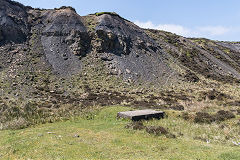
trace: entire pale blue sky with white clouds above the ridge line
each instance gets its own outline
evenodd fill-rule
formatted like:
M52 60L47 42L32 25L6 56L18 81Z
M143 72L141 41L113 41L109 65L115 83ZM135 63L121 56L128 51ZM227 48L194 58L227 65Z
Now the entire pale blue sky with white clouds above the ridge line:
M73 6L80 15L117 12L144 28L185 37L240 41L239 0L17 0L39 8Z

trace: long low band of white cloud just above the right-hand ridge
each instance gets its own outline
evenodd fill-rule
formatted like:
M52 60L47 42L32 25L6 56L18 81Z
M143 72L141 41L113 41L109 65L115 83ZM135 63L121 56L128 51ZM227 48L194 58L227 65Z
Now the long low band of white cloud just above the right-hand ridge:
M231 28L223 27L223 26L200 26L200 27L188 28L188 27L184 27L182 25L176 25L176 24L156 25L156 24L153 24L151 21L147 21L147 22L135 21L134 23L142 28L164 30L164 31L172 32L185 37L214 38L216 36L224 36L230 31L232 31Z

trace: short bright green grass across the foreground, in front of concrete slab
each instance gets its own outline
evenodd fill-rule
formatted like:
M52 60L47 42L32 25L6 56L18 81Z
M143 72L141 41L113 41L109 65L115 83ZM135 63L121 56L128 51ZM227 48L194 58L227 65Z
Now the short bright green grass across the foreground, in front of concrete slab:
M237 146L192 138L221 134L215 125L197 125L169 114L146 125L160 124L183 135L176 139L156 137L125 129L128 121L115 118L125 110L129 108L115 106L71 121L0 131L0 159L240 159Z

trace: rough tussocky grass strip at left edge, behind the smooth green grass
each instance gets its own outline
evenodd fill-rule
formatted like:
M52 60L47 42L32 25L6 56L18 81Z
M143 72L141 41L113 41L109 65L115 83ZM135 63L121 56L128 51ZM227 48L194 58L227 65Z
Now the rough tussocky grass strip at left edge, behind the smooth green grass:
M0 130L22 129L36 124L67 120L80 115L83 109L81 105L62 104L58 108L53 105L39 101L10 101L0 105ZM52 106L57 109L51 108Z

